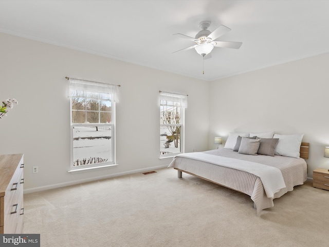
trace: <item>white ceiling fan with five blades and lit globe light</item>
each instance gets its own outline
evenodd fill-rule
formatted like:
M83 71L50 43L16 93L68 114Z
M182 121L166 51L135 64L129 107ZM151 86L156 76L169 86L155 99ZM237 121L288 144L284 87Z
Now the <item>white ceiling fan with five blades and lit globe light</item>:
M233 48L233 49L240 48L240 46L242 45L242 42L216 41L216 39L220 38L227 32L231 31L231 29L224 25L221 25L217 29L215 29L213 32L211 32L208 30L208 27L210 26L210 24L211 24L210 21L200 22L199 27L202 30L196 34L195 38L187 36L185 34L181 34L181 33L173 34L173 35L180 35L184 38L187 38L187 39L195 42L195 45L174 51L173 53L194 48L196 50L196 52L199 55L203 56L205 59L205 56L207 56L208 54L209 54L208 57L211 56L210 52L212 51L212 49L214 47L225 47L225 48Z

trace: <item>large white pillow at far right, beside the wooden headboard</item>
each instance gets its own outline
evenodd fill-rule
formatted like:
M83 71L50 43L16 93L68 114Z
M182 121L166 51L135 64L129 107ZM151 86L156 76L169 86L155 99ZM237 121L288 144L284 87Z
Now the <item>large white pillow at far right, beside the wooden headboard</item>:
M279 138L275 154L287 157L299 158L300 145L304 134L279 135L274 134L273 138Z

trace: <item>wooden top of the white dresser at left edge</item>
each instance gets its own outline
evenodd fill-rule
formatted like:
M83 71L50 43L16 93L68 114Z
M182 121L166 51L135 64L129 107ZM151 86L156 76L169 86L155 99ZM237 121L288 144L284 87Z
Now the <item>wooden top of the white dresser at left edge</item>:
M22 153L0 155L0 196L5 195L8 184L22 157Z

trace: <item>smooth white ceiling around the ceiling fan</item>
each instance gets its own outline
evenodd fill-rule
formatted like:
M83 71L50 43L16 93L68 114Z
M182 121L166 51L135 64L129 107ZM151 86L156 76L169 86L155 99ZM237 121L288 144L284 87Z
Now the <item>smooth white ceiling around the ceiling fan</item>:
M172 54L201 21L243 42L215 47L204 75L194 49ZM329 52L328 30L329 1L0 1L0 32L207 81Z

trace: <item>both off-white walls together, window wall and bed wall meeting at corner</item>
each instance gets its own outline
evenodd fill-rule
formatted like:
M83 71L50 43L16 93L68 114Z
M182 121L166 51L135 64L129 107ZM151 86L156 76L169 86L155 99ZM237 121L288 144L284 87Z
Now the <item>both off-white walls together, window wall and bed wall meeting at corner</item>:
M326 112L329 54L213 82L162 72L0 33L0 100L19 101L0 119L0 154L25 154L27 192L165 167L159 160L158 91L188 94L186 152L215 148L233 131L304 133L308 177L329 168ZM117 104L119 166L68 173L68 82L65 76L121 84ZM144 146L144 149L140 149ZM32 173L32 166L39 173Z

